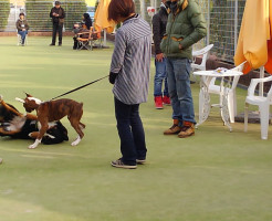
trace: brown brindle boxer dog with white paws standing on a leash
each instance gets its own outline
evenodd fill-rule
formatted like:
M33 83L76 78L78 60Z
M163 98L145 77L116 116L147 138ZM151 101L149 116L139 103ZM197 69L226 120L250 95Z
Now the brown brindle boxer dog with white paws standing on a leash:
M24 99L17 98L17 101L23 103L23 107L28 113L35 109L38 122L41 124L39 135L34 144L29 146L30 149L36 148L36 146L41 143L43 135L49 128L50 122L60 120L64 116L67 116L72 127L79 134L79 137L71 145L79 145L83 138L84 134L82 129L85 128L85 125L80 122L83 115L83 103L77 103L73 99L66 98L41 102L29 94L27 94Z

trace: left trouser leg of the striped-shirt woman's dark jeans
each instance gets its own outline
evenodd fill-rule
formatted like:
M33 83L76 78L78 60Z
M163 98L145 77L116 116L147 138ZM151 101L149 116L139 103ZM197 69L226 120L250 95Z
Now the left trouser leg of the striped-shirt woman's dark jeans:
M117 129L121 139L122 161L125 165L136 165L137 152L130 128L132 105L126 105L117 98L114 101Z

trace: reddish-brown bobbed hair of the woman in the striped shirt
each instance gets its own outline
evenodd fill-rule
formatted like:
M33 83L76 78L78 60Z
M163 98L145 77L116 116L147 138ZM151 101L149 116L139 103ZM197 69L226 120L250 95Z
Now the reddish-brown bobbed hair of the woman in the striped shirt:
M121 18L127 18L132 13L135 13L133 0L112 0L108 6L107 20L118 22Z

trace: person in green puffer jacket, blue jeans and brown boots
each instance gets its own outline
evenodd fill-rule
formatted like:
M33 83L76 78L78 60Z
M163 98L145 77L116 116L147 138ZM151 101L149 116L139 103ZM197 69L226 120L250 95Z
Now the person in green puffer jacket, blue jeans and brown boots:
M167 56L167 81L172 106L172 126L165 135L195 135L195 112L190 88L192 44L206 36L206 21L195 0L171 0L166 34L160 49Z

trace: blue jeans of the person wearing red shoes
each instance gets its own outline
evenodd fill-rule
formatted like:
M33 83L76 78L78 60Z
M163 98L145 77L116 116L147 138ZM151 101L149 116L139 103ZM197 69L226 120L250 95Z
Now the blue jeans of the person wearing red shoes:
M166 74L166 59L163 62L155 60L156 73L154 77L154 96L161 96L163 82L165 81L164 95L168 96L167 74Z

